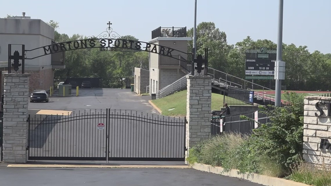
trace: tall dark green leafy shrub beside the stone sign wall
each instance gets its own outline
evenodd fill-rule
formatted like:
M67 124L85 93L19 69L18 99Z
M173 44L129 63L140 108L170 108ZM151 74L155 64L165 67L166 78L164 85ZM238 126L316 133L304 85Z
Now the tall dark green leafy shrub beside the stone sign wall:
M281 167L283 175L288 175L293 164L302 157L304 125L303 97L294 92L287 93L286 97L289 102L285 107L260 107L260 113L267 114L272 122L260 124L250 139L256 156L268 157L267 161L274 162L275 168ZM266 171L263 166L259 169Z

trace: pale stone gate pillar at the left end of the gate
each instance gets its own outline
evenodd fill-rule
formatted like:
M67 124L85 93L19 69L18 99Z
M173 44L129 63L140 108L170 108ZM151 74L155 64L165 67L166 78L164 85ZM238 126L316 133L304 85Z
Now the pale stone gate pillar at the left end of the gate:
M3 161L26 163L29 74L4 74Z

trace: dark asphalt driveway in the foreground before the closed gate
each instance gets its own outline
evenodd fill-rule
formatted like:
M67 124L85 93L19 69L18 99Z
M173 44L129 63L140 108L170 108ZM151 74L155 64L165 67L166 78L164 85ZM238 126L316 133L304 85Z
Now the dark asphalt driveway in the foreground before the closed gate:
M260 186L237 178L184 168L0 168L6 186Z

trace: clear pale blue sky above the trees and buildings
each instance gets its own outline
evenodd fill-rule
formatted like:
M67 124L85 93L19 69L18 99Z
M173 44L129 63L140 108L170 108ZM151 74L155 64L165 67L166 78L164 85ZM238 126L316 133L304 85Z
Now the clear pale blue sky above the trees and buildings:
M277 41L278 0L197 1L197 24L214 22L229 44L248 35ZM68 35L98 35L111 21L118 34L149 41L159 26L193 27L194 0L0 0L0 17L22 12L32 19L59 22L59 32ZM284 0L284 43L331 53L330 30L331 0Z

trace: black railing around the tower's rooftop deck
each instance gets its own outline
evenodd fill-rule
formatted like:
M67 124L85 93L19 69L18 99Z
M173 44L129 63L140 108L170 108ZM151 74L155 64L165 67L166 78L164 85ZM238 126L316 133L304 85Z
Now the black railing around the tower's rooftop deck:
M186 37L185 27L158 27L152 30L152 39L157 37Z

